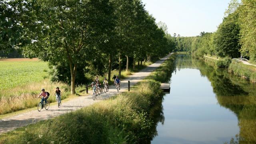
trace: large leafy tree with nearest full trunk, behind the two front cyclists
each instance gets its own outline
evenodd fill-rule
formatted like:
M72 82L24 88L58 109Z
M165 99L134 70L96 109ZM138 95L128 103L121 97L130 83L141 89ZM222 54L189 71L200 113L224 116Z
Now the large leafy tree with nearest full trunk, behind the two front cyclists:
M45 55L53 66L67 63L75 94L77 68L94 57L90 50L105 41L102 35L112 28L113 8L109 0L37 0L34 7L40 30L25 50Z

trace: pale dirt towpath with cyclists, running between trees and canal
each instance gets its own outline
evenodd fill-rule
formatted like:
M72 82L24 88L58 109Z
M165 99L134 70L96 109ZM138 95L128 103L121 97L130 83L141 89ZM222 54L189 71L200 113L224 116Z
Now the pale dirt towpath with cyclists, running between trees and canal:
M159 67L166 59L168 59L170 55L171 54L165 56L164 58L161 58L160 60L144 68L140 72L136 72L128 76L126 79L121 80L120 92L128 90L128 80L130 80L130 86L133 86L137 82L140 82L141 80L146 78L151 72L153 72L157 67ZM89 93L89 96L79 96L78 98L74 98L67 102L62 102L62 106L60 108L58 108L57 104L50 104L50 108L48 110L43 109L41 110L41 112L38 112L38 110L32 110L23 114L12 116L10 118L4 118L0 120L0 134L8 132L10 130L14 130L15 128L38 122L40 120L54 118L56 116L59 116L60 114L78 110L85 106L94 104L95 102L101 101L100 98L98 98L97 100L92 100L92 91L89 91ZM117 94L115 86L109 86L109 92L101 94L101 96L102 99L106 99L115 94ZM38 99L38 102L39 101L40 100Z

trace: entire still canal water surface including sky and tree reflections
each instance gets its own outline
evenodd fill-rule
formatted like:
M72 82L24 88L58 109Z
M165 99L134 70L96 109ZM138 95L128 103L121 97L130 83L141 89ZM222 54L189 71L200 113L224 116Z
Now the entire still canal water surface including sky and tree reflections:
M189 55L177 55L152 144L256 142L255 84Z

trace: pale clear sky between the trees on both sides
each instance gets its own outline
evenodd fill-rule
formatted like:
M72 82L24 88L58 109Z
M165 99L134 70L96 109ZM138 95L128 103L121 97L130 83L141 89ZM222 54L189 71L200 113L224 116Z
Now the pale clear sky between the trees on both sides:
M142 0L145 8L168 26L168 33L198 36L215 32L230 0Z

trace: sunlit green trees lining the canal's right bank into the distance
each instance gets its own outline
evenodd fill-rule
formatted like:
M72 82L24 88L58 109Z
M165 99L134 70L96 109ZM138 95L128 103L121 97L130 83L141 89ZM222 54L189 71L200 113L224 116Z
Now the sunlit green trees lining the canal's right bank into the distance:
M256 3L255 0L231 0L223 22L213 33L178 37L177 50L191 51L196 56L210 54L238 58L241 55L256 62Z

